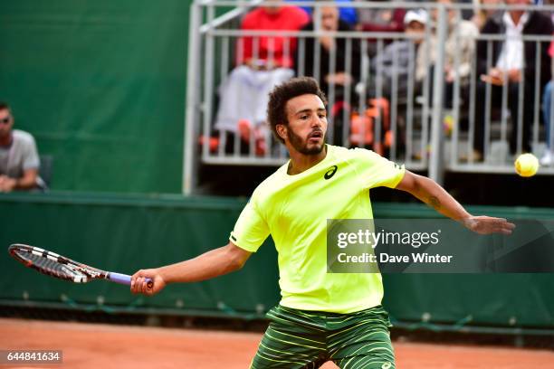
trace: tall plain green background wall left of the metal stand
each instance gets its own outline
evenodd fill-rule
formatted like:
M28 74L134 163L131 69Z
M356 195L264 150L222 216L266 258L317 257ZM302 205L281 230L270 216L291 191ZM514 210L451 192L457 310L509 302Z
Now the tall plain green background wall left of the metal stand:
M53 189L180 192L191 1L0 3L0 100Z

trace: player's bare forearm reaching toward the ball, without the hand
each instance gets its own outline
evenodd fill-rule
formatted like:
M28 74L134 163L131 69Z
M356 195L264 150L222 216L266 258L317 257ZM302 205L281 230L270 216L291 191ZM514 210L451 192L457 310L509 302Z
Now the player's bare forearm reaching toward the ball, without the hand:
M411 193L422 202L434 208L438 213L455 221L462 221L471 216L443 187L425 176L416 176L416 184Z

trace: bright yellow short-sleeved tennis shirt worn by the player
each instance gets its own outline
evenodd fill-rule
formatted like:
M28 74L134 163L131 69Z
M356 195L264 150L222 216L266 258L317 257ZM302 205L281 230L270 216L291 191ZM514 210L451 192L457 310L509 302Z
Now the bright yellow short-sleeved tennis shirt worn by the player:
M369 189L396 187L404 166L366 149L330 145L301 174L288 175L288 166L254 190L229 240L255 252L272 235L284 307L346 314L379 305L379 273L327 272L327 220L373 219Z

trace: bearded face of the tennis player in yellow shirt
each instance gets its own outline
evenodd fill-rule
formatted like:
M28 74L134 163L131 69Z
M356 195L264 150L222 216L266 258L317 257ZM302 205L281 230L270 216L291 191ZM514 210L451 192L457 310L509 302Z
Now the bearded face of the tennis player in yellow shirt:
M287 102L287 138L304 155L318 155L325 147L327 110L317 95L301 95Z

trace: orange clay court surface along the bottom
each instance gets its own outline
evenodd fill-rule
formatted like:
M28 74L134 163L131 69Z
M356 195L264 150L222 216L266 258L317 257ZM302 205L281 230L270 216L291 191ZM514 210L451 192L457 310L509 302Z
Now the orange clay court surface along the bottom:
M257 333L0 318L0 350L63 351L63 364L12 366L19 369L247 368L261 337ZM394 346L400 369L554 367L550 351L397 342ZM328 363L323 368L336 366Z

